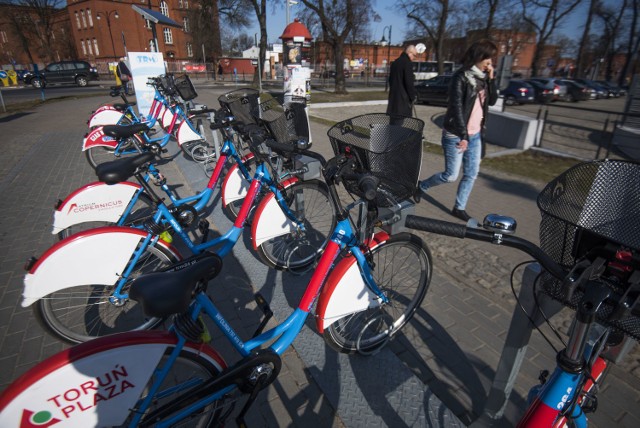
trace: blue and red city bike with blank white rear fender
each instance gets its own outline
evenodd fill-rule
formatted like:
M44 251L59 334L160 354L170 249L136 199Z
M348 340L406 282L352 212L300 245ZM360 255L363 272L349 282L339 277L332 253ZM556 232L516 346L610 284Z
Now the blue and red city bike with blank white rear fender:
M263 144L265 135L254 129L252 138L256 144ZM306 269L319 257L330 236L335 214L326 185L310 180L282 186L272 179L267 165L258 162L248 196L231 229L218 238L208 239L208 222L201 220L198 224L201 242L194 242L187 233L190 223L186 220L197 218L195 208L189 204L165 205L143 176L153 156L144 153L105 163L97 169L100 181L106 184L136 177L153 207L153 216L142 227L107 226L71 235L26 266L22 304L37 303L36 316L58 337L82 342L159 324L161 319L147 319L128 298L131 280L142 272L158 270L182 259L171 245L173 236L179 237L194 254L215 247L218 254L227 255L242 236L262 187L268 187L274 197L259 201L257 211L261 214L254 216L251 234L254 249L269 266ZM223 162L216 165L212 180L219 177L222 167ZM207 195L212 191L212 187L205 190ZM206 199L202 198L200 203L206 203Z

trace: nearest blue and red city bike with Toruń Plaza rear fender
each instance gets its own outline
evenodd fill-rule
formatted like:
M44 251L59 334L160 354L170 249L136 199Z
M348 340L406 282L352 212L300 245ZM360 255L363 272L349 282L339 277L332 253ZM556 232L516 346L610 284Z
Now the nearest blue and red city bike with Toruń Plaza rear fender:
M418 119L400 120L409 126L418 124ZM407 150L411 154L421 151L422 133L417 132L411 142L389 140L384 150L380 150L381 139L374 135L377 148L370 151L369 144L358 145L372 137L365 122L371 124L369 119L354 118L340 127L351 133L352 141L339 147L325 168L340 220L304 295L286 319L265 331L272 312L257 295L265 317L253 336L243 340L207 294L208 280L222 269L221 258L212 253L194 256L164 272L143 275L131 285L131 297L149 316L173 315L169 332L111 335L41 362L0 396L0 424L15 426L36 420L61 427L222 426L233 414L235 422L245 426L257 394L277 378L281 355L314 306L316 316L325 320L324 329L332 330L324 333L325 338L341 351L372 354L388 343L426 295L431 255L418 237L395 229L407 212L395 204L396 198L415 193L417 176L406 188L398 185L391 171L374 172L378 168L372 165L376 159L405 158ZM375 122L405 128L381 123L381 117L375 117ZM354 125L356 132L352 132ZM417 160L420 162L420 156ZM415 163L416 158L411 161ZM347 207L338 198L338 182L348 183L349 193L357 198ZM385 208L383 217L379 217L381 208ZM355 219L349 215L351 210L358 213ZM396 233L391 237L385 232L372 234L376 224ZM354 263L358 276L349 268ZM334 313L329 322L326 311L338 298L343 300L339 302L342 313ZM234 362L227 364L205 343L203 319L210 319L237 351ZM336 325L339 327L332 327ZM244 403L234 414L240 400Z

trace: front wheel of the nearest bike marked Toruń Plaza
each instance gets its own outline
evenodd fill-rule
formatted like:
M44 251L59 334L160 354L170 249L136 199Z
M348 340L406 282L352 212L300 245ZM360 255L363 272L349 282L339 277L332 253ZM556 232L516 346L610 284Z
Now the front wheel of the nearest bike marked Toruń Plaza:
M392 236L371 251L370 264L373 278L389 302L331 324L324 339L339 352L377 351L411 319L429 288L431 252L415 235Z

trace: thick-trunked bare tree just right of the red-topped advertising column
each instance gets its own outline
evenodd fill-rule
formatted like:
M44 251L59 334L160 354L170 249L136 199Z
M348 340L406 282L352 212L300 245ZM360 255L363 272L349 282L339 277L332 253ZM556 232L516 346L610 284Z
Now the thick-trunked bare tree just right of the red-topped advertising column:
M335 93L347 94L344 82L344 44L358 17L368 16L369 0L302 0L317 16L324 40L333 50L336 64Z

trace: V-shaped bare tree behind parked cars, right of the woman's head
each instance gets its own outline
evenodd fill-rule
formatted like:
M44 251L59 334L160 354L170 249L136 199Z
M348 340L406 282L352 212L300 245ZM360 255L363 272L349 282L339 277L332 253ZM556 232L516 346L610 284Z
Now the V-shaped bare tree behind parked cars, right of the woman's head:
M558 24L580 4L582 0L521 0L522 16L538 33L536 49L531 64L532 76L538 75L539 62L545 45Z

